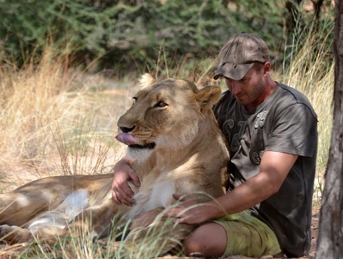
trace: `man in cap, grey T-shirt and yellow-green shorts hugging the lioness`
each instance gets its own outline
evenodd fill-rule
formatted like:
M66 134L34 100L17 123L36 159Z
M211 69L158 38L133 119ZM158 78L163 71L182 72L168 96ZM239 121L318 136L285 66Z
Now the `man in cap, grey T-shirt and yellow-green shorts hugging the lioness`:
M214 112L232 153L229 191L181 215L190 201L166 212L178 222L200 224L183 242L187 255L309 252L317 116L302 93L272 80L270 69L268 47L257 36L233 36L220 52L214 79L224 78L228 91ZM128 205L126 181L139 185L130 162L119 161L113 180L113 199ZM155 215L134 224L146 225Z

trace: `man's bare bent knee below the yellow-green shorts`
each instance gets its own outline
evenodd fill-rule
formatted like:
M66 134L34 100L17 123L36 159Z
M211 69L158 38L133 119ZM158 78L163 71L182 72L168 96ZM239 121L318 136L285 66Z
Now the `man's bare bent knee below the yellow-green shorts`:
M226 249L226 231L217 223L205 223L193 230L183 241L185 254L200 253L204 256L220 257Z

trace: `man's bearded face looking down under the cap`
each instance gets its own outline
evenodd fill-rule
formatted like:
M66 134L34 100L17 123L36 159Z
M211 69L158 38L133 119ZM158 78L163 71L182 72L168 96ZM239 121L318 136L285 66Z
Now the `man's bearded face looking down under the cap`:
M246 108L248 106L248 110L255 109L263 102L263 100L260 100L262 93L265 91L263 72L256 71L255 67L252 67L241 80L235 81L225 78L225 82L237 102L242 106L246 106Z

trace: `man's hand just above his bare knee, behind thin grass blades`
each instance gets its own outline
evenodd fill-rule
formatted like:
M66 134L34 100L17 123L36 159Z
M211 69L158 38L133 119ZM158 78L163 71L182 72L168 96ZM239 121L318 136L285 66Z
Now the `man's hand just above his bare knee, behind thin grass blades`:
M183 201L180 205L172 207L163 216L176 218L175 223L200 224L212 218L213 210L218 207L209 203L197 203L193 199L180 199L180 195L173 194L174 199Z

